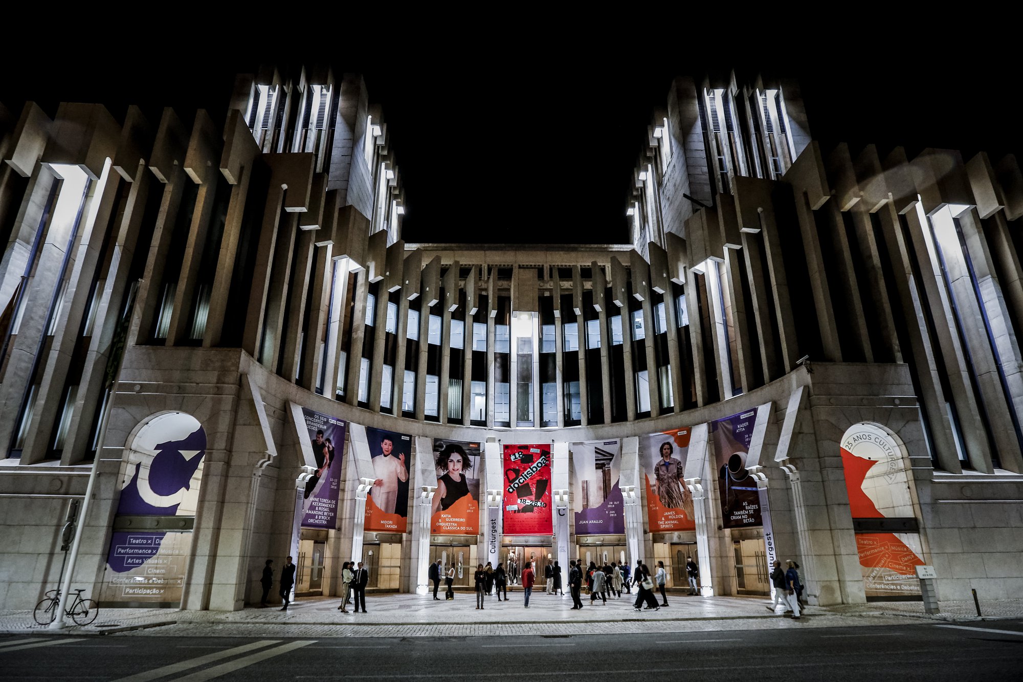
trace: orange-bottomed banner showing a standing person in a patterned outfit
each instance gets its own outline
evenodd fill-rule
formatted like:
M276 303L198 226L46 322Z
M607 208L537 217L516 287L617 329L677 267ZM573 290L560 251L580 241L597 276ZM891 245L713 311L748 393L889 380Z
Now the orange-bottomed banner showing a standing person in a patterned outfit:
M683 480L690 430L686 427L655 433L639 441L651 532L696 530L693 494Z

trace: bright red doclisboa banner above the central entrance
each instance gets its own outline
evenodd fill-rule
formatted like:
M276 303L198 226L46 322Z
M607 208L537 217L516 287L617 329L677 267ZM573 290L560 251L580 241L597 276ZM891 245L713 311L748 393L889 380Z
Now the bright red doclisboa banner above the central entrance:
M505 536L549 536L550 446L504 445Z

